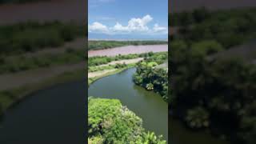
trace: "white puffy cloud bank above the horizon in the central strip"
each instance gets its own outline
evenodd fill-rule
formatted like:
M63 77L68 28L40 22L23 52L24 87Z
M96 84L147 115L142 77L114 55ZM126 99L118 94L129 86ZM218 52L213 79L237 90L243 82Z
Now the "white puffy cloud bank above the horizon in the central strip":
M94 22L93 25L89 25L90 33L102 33L102 34L168 34L168 29L163 26L154 24L152 29L149 28L148 24L153 18L147 14L142 18L131 18L127 26L122 26L119 22L113 27L107 27L99 22Z

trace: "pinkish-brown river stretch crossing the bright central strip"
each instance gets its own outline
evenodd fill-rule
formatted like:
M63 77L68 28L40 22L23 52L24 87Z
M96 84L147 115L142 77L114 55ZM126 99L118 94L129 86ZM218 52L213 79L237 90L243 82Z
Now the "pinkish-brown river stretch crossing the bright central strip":
M121 46L104 50L89 50L88 57L94 56L115 56L118 54L142 54L148 52L168 51L168 45L147 45L147 46Z

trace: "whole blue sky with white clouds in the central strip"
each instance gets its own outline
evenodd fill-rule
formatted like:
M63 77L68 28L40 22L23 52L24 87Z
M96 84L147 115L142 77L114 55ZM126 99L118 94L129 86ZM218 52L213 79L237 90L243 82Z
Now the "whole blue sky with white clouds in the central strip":
M90 39L167 39L168 0L89 0Z

